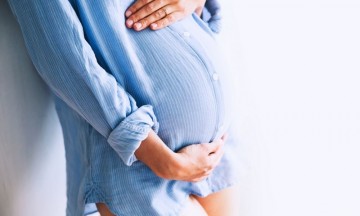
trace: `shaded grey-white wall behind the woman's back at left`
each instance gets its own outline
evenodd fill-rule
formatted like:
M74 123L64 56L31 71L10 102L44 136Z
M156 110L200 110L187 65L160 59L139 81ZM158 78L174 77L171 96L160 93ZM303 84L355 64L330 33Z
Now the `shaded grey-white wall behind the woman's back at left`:
M62 142L48 88L27 56L7 2L1 0L0 215L64 215Z

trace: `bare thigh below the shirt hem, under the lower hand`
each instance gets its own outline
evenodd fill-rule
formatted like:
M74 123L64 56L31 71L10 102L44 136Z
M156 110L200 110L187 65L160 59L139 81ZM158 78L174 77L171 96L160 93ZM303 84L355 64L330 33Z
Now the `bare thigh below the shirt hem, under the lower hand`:
M208 216L239 216L239 185L232 186L206 197L195 197Z

